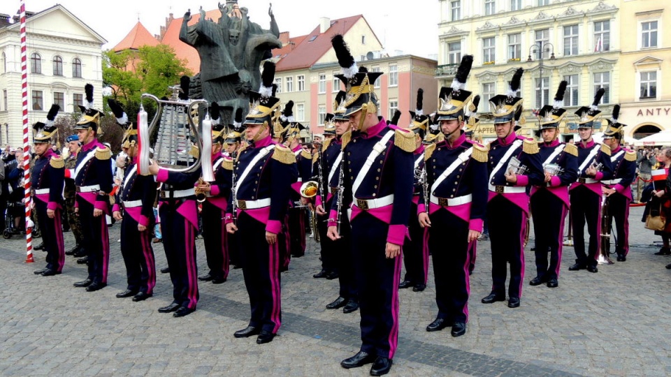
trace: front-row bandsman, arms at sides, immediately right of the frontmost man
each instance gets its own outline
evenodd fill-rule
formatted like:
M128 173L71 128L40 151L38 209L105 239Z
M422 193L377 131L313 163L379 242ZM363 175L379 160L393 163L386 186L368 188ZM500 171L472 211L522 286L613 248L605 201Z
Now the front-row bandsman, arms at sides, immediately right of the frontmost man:
M453 337L466 334L470 249L482 232L487 202L487 149L466 140L462 130L464 108L471 99L471 92L463 87L472 59L472 55L463 57L452 92L439 98L438 122L445 140L426 147L426 186L421 188L417 209L419 225L428 228L438 304L438 316L426 331L452 326ZM449 249L445 232L452 239Z

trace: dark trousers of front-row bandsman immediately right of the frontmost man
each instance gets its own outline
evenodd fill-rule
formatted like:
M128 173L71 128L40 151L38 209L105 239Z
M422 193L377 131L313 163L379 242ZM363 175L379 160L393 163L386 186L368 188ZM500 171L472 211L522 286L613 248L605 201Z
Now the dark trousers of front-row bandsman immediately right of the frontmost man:
M431 214L428 247L433 259L437 318L445 318L448 323L468 322L469 250L472 246L468 242L468 230L468 221L445 208ZM449 242L446 242L447 234Z

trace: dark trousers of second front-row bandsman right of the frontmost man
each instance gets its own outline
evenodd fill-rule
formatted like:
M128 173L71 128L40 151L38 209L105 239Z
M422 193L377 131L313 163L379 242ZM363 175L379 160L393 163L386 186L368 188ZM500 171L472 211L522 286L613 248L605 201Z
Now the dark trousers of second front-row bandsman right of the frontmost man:
M510 262L509 297L521 297L524 279L524 235L527 214L503 195L487 204L491 242L491 292L505 295L507 263Z

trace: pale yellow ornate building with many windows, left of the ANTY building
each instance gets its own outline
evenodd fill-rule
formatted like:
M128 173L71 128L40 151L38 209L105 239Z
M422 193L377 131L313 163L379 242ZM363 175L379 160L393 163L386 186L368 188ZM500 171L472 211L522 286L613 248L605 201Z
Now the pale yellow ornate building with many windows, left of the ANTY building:
M519 95L528 122L520 133L526 136L538 128L533 111L551 104L559 82L567 80L569 115L561 129L567 140L577 133L573 112L590 105L597 89L606 89L604 117L620 101L626 87L619 81L623 14L621 0L440 0L436 77L449 86L461 57L474 55L466 89L482 97L482 114L489 112L489 98L505 94L514 71L524 68ZM491 120L481 121L475 137L495 137Z

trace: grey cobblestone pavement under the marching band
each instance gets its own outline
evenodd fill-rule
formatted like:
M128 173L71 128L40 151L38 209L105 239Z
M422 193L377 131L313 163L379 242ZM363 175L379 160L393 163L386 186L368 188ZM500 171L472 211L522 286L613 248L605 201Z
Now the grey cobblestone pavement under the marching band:
M526 252L521 306L485 305L491 287L489 242L480 242L471 276L468 332L452 338L449 329L424 327L437 311L433 270L423 293L401 291L401 333L392 374L396 376L668 376L671 352L671 257L654 256L659 237L632 209L632 248L626 263L600 266L598 274L569 272L572 248L565 248L559 287L528 286L535 276L533 253ZM110 229L112 255L108 287L96 293L73 288L85 267L66 257L64 273L32 274L44 265L24 263L23 239L0 240L0 374L193 376L368 375L368 367L345 370L340 360L359 347L359 312L329 311L337 281L312 279L318 248L308 242L303 258L282 274L283 320L275 341L235 339L247 325L249 302L242 270L222 285L201 283L198 310L185 318L157 312L172 300L166 274L159 274L154 297L145 302L117 299L125 269L119 226ZM446 242L448 239L446 238ZM38 239L39 242L39 239ZM70 249L72 235L66 233ZM205 268L202 240L198 263ZM533 232L530 246L533 245ZM166 261L154 245L157 268Z

